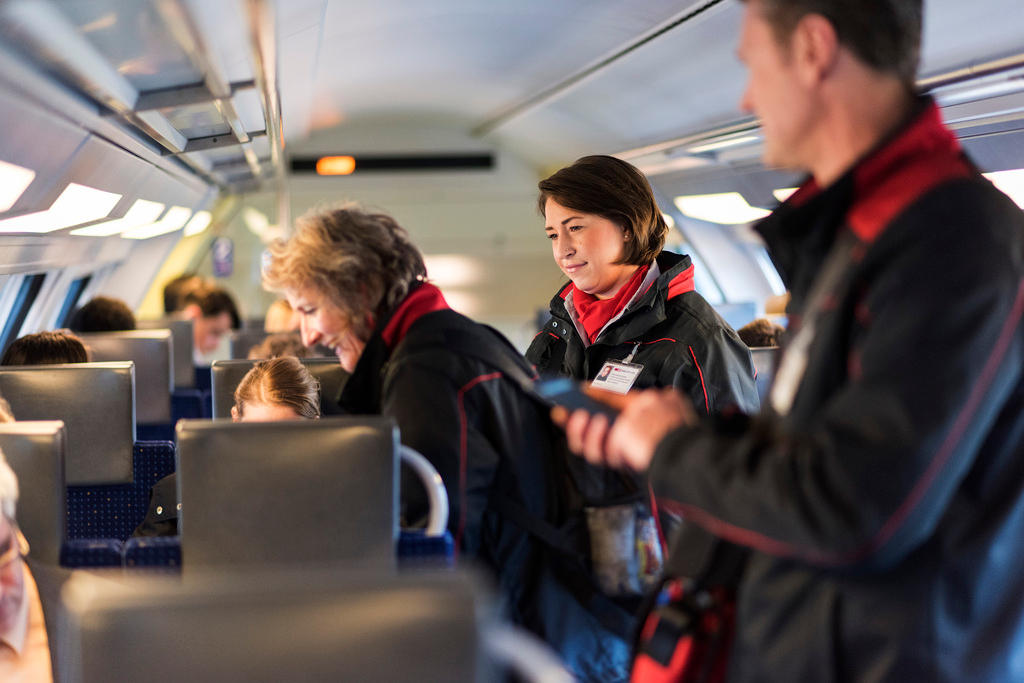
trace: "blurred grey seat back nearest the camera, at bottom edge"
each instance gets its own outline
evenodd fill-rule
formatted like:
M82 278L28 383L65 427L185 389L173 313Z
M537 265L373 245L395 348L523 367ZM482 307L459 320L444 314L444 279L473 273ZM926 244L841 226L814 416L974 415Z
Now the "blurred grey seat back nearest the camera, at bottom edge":
M68 674L82 683L489 680L486 597L456 572L79 572L62 598Z

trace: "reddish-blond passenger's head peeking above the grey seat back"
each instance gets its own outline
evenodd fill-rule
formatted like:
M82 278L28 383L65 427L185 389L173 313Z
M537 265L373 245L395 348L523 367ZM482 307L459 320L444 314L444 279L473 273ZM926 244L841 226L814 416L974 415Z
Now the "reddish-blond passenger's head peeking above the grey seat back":
M234 390L236 422L311 420L319 417L319 383L294 356L261 360Z

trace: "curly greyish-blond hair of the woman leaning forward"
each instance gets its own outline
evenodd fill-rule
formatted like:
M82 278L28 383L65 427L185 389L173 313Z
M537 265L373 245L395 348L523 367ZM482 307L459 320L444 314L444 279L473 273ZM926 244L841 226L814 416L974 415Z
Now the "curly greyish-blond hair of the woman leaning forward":
M368 339L371 322L394 309L425 280L423 256L394 218L356 204L311 211L295 222L295 234L269 248L263 285L271 291L312 287Z

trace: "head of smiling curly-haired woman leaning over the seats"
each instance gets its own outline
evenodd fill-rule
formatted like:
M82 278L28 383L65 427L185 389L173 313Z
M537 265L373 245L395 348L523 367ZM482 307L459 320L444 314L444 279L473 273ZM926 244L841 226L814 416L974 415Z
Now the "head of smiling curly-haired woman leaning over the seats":
M302 343L331 347L348 372L376 322L427 274L394 218L352 204L302 216L270 256L263 284L298 311Z

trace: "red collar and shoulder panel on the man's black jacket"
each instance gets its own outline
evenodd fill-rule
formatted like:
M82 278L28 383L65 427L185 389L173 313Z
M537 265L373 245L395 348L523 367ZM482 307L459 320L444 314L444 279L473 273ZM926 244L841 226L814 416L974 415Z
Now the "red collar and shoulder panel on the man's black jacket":
M855 199L847 222L860 240L873 242L922 195L971 173L939 108L929 102L902 133L854 169Z

